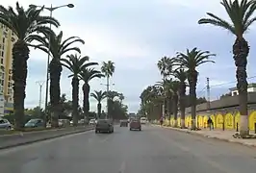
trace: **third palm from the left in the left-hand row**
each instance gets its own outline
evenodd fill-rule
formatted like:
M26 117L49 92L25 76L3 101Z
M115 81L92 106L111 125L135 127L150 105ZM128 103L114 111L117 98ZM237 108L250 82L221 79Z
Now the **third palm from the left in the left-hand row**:
M79 73L84 69L85 67L88 67L90 65L96 65L98 63L96 62L89 62L89 57L81 57L77 54L68 55L66 56L67 59L61 59L62 64L64 67L66 67L71 74L68 76L68 78L72 77L72 116L73 116L73 124L74 126L78 123L78 101L79 101Z

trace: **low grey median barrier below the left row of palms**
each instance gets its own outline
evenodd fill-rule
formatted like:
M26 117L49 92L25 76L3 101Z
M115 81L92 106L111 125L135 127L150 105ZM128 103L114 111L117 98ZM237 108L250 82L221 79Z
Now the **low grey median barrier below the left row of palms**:
M83 133L92 129L93 127L91 126L80 126L0 136L0 149L29 144L59 136Z

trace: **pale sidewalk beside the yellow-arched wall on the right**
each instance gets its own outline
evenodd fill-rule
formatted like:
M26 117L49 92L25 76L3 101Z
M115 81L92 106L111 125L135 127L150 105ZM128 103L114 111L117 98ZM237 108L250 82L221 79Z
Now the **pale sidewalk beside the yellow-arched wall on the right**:
M154 125L160 127L160 125ZM221 130L213 130L210 131L209 129L202 129L200 131L191 131L189 129L179 129L179 128L173 128L173 127L166 127L163 126L163 128L171 129L175 131L184 132L187 134L192 134L196 136L205 136L210 138L217 138L219 140L228 141L228 142L234 142L234 143L240 143L246 146L256 147L256 138L234 138L233 135L235 135L236 131L221 131ZM253 132L251 132L253 134Z

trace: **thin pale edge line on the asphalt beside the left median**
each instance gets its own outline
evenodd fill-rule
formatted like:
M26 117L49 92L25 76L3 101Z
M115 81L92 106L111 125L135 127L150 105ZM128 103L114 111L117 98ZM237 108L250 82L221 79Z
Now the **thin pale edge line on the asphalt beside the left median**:
M47 143L51 143L51 142L58 141L58 140L63 140L63 139L74 137L74 136L83 136L83 135L86 135L86 134L90 134L91 132L92 132L92 130L84 132L84 133L67 135L67 136L60 136L60 137L46 139L46 140L38 141L38 142L35 142L35 143L27 144L27 145L21 145L21 146L9 148L9 149L3 149L3 150L0 150L0 156L5 156L5 155L11 154L13 152L26 150L26 149L29 149L31 147L38 147L38 146L43 147L43 145L45 145Z

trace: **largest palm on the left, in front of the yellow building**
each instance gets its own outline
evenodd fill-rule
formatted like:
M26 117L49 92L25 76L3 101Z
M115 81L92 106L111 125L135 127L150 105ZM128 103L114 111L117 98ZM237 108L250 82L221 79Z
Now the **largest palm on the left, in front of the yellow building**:
M29 46L31 42L38 40L38 34L52 33L47 24L59 27L60 23L50 16L40 15L43 8L37 10L28 8L24 10L16 3L16 12L12 7L6 9L0 6L0 23L12 30L17 37L13 44L13 109L15 118L15 129L21 130L24 127L24 99L27 81L29 59Z

